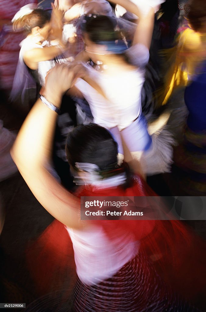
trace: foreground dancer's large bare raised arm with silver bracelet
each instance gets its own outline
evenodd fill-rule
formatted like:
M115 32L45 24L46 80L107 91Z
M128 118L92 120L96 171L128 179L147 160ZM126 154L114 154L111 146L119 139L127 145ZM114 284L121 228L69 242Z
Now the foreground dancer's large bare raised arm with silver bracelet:
M46 78L45 98L60 108L63 93L76 73L56 66ZM80 199L70 194L51 175L51 151L57 113L39 99L27 116L12 147L14 162L41 205L68 227L81 228L77 209Z

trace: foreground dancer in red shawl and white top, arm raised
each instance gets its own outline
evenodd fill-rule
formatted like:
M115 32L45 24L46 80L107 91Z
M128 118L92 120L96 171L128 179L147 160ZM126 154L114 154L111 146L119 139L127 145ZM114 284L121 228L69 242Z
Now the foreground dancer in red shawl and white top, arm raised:
M78 71L79 66L62 65L50 72L44 95L27 116L11 152L33 194L58 220L55 221L57 227L60 222L65 224L73 242L78 279L71 311L198 311L171 291L142 250L141 237L154 229L155 222L146 223L146 227L144 222L139 222L132 228L128 222L80 219L80 196L155 196L140 176L129 178L125 167L117 165L117 144L108 130L96 124L81 125L68 136L68 160L77 179L82 181L80 184L84 185L78 197L50 174L56 113L60 110L62 95L75 82ZM178 222L170 225L174 226L172 241L175 233L179 233L179 237L186 235ZM185 239L186 236L184 245ZM53 262L51 253L49 261ZM46 264L47 269L48 266Z

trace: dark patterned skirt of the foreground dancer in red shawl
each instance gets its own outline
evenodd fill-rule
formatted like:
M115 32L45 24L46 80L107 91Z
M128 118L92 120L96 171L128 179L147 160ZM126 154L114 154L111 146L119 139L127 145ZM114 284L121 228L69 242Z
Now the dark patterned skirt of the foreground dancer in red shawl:
M71 312L192 312L160 279L143 252L112 278L91 286L77 279Z

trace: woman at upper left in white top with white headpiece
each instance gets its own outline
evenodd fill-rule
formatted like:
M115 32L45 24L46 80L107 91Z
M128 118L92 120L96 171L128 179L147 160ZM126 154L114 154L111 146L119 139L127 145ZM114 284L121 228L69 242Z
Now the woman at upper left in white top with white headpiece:
M25 115L38 98L41 86L45 84L47 72L58 62L67 61L63 55L68 48L66 42L62 40L63 12L59 9L58 2L56 7L51 3L51 7L50 14L47 10L37 9L36 5L30 4L22 7L12 19L13 28L23 30L26 38L20 43L21 50L10 99L16 101ZM68 104L69 100L64 98L63 102ZM62 115L58 120L54 144L54 167L61 177L65 171L65 163L58 157L57 151L61 141L64 140L61 130L65 124L68 130L68 127L75 123L75 116L74 122L70 117L75 115L74 103L72 100L70 102L72 103L65 109L62 105ZM68 166L66 169L68 170Z

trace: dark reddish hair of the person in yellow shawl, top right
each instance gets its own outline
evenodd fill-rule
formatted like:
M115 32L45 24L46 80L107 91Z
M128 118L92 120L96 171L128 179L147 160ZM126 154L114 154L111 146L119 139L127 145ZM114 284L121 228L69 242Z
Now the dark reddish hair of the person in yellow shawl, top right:
M194 29L198 31L203 22L206 23L206 1L205 0L192 0L186 6L186 17L189 24Z

